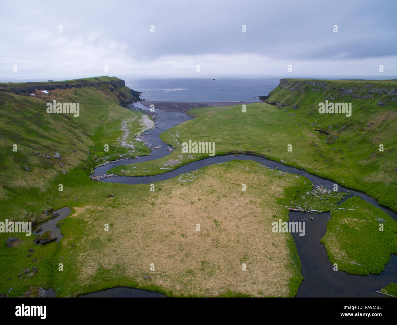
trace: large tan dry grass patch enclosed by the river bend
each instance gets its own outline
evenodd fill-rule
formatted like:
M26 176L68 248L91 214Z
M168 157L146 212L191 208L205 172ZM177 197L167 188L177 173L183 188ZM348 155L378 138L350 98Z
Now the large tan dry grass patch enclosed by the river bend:
M193 182L176 177L157 183L155 192L149 185L122 185L125 191L115 197L76 208L71 219L84 224L85 234L66 233L61 255L77 266L79 289L95 286L96 275L106 269L113 280L120 279L118 285L133 279L140 287L152 284L178 296L230 291L289 296L290 279L300 277L290 266L287 240L292 236L273 233L272 222L273 215L277 220L287 215L276 198L298 180L290 174L276 176L255 162L228 164L232 167L202 168ZM67 257L72 242L78 243L79 254Z

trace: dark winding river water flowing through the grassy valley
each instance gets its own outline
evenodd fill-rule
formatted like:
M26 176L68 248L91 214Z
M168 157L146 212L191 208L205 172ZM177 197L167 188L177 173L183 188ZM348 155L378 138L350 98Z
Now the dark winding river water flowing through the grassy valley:
M140 103L135 103L136 108L141 110L149 110ZM136 109L135 108L135 109ZM150 161L165 157L169 154L166 150L168 145L163 143L159 138L161 132L175 126L181 122L191 119L184 113L176 112L163 112L161 110L156 110L156 119L154 122L158 123L155 128L144 133L145 141L147 145L154 143L156 147L158 145L163 145L160 149L155 149L152 151L152 155L143 156L137 159L123 160L115 163L109 163L104 166L100 166L95 169L94 176L100 174L105 174L107 170L113 168L114 166L123 164L134 164L141 161ZM285 166L279 162L268 160L264 157L239 154L235 155L223 155L208 157L200 161L194 161L184 166L181 166L170 172L166 172L160 175L154 176L139 176L139 177L128 177L128 176L116 176L104 178L102 182L112 182L112 183L123 183L123 184L151 184L154 182L159 182L162 180L167 180L169 178L178 176L180 174L191 172L193 170L200 169L204 166L210 164L217 164L219 162L226 162L231 160L252 160L260 162L267 167L276 168L279 166L278 170L283 172L288 172L291 174L297 174L308 178L312 184L319 183L327 189L333 190L333 185L336 184L333 181L320 178L305 172L304 170L297 169L295 167ZM386 212L394 220L397 220L397 214L395 211L379 205L376 199L366 195L365 193L358 192L355 190L350 190L338 184L338 191L350 192L350 196L356 195L361 197L364 201L371 203L382 211ZM341 201L345 201L348 196L344 197ZM70 213L67 212L68 208L64 208L60 217L66 217ZM67 214L66 214L67 212ZM66 215L65 215L66 214ZM312 215L310 215L312 216ZM342 271L333 271L333 265L328 261L328 256L324 245L320 243L320 239L326 233L326 226L329 220L330 213L317 214L314 220L309 218L306 213L290 211L289 220L290 221L305 221L306 234L305 236L299 236L299 233L293 233L293 238L297 246L297 251L301 260L301 271L304 280L299 287L297 297L384 297L384 295L379 294L376 290L380 290L382 287L388 285L390 282L397 281L397 255L391 255L389 263L385 266L384 271L380 275L370 274L368 276L360 275L349 275ZM56 222L58 222L60 217L47 222L52 222L52 230L55 227ZM55 223L54 223L55 222ZM46 222L41 224L42 228L46 226ZM57 227L55 227L57 228ZM58 228L59 229L59 228ZM62 236L62 235L61 235ZM62 237L61 237L62 238ZM52 290L52 289L50 289ZM53 290L52 290L53 292ZM53 294L51 292L51 294ZM101 290L97 292L91 292L89 294L81 295L80 297L164 297L164 294L158 292L150 292L146 290L140 290L135 288L126 287L116 287L109 288L106 290Z

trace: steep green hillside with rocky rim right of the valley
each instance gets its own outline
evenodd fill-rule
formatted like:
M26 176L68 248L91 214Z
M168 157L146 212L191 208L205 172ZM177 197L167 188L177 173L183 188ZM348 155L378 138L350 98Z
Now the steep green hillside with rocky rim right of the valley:
M351 103L351 116L319 114L326 100ZM322 143L343 150L340 168L357 170L348 183L397 209L397 80L281 79L266 103L302 114L313 130L328 133Z

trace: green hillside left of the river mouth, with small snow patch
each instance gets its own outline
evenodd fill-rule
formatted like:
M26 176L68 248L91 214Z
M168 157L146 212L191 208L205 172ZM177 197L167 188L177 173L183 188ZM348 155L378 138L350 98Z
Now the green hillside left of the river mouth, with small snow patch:
M2 83L0 90L0 207L8 219L45 218L41 211L48 204L42 202L42 193L56 190L59 182L53 182L73 168L81 168L89 179L91 168L104 157L150 152L132 136L141 130L142 114L120 106L139 100L140 93L121 79ZM78 116L48 114L47 104L54 101L78 103ZM130 147L119 141L124 120Z

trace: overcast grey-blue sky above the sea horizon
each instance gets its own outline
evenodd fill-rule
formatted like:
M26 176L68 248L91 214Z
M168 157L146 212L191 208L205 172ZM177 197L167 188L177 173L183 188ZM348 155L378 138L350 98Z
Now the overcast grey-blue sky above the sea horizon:
M0 79L397 75L396 14L396 0L2 1Z

